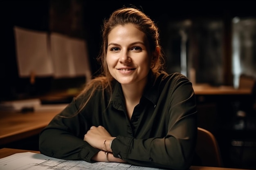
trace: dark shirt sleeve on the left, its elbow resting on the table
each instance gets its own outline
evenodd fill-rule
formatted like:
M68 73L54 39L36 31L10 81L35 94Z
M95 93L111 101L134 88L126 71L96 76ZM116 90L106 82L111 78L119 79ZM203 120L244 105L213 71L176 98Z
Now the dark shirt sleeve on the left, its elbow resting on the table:
M73 99L40 132L39 150L42 154L58 159L94 162L91 158L99 150L83 141L83 134L89 129L90 124L82 114L76 112L76 102Z

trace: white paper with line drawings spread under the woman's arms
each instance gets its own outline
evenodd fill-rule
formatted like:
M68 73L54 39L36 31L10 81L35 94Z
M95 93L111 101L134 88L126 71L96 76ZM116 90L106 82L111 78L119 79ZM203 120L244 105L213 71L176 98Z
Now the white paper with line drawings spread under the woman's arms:
M127 163L67 161L43 154L23 152L0 159L0 170L161 170Z

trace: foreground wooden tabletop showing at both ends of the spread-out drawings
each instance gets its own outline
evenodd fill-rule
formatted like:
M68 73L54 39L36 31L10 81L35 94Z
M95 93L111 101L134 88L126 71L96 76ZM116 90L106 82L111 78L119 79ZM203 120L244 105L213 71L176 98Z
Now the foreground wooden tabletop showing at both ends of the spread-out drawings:
M35 152L40 153L39 151L33 150L20 150L20 149L11 149L11 148L2 148L0 149L0 158L4 158L15 153L20 152ZM236 169L236 168L217 168L217 167L207 167L207 166L191 166L189 170L245 170L245 169Z

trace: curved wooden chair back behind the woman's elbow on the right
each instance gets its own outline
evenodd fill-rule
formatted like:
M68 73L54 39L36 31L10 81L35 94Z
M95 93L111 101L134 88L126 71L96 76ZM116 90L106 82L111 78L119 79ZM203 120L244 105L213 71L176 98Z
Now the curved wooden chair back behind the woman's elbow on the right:
M214 135L198 127L196 154L200 157L200 166L222 167L220 148Z

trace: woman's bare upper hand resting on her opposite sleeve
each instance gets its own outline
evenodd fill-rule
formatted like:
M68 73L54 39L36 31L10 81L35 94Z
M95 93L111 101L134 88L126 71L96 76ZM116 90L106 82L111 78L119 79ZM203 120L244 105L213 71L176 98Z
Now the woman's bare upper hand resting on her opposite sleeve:
M111 140L113 137L109 134L109 132L103 126L92 126L90 130L84 135L83 140L87 141L92 147L103 150L104 149L110 151L109 146L104 144L105 140Z

